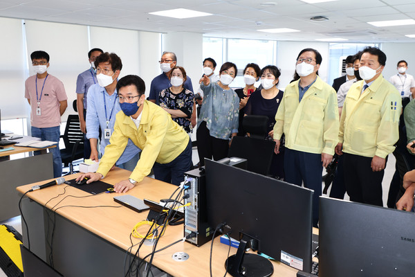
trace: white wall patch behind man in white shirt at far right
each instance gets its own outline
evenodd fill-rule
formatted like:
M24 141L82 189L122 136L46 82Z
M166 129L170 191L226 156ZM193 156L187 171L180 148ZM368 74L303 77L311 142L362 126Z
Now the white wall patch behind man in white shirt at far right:
M382 73L387 80L398 73L396 64L400 60L407 61L407 73L415 75L415 43L382 43L382 51L386 54L386 66Z

